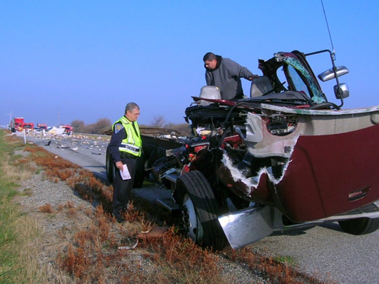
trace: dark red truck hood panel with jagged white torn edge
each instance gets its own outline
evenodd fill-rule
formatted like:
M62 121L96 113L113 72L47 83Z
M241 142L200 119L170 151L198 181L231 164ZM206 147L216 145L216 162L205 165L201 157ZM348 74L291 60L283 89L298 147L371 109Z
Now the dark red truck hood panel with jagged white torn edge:
M373 174L378 170L378 141L379 125L336 135L299 136L280 175L264 166L246 177L226 152L218 173L237 195L274 203L295 222L321 219L379 199ZM356 191L362 196L349 198Z

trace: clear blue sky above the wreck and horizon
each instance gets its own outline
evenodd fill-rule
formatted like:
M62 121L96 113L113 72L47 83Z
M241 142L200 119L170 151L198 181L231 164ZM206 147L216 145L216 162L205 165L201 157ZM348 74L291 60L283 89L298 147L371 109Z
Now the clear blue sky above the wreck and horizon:
M379 105L378 2L324 7L336 64L350 70L344 108ZM50 126L113 122L131 101L140 124L184 123L206 52L261 74L258 59L275 52L332 49L321 0L0 0L0 42L0 125L10 113ZM316 75L331 68L327 54L310 64ZM331 84L324 93L339 103Z

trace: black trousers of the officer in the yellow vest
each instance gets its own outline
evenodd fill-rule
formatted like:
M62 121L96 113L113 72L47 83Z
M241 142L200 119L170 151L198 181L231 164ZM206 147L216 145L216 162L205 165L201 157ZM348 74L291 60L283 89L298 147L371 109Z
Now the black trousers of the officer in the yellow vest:
M116 168L115 180L113 182L112 211L117 220L121 219L121 214L127 210L129 200L132 198L137 159L122 158L121 161L128 166L132 178L123 180L120 171Z

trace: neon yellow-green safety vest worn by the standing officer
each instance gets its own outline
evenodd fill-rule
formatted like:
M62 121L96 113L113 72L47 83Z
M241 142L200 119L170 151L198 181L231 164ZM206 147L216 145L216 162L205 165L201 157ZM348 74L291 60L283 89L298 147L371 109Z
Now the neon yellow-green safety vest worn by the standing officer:
M115 125L119 122L121 122L126 131L126 138L121 142L121 145L119 146L119 151L130 153L135 156L140 156L142 141L140 137L140 128L138 127L137 122L134 123L134 127L136 128L136 131L134 131L133 124L126 117L123 116L121 119L119 119L116 123L113 124L113 131Z

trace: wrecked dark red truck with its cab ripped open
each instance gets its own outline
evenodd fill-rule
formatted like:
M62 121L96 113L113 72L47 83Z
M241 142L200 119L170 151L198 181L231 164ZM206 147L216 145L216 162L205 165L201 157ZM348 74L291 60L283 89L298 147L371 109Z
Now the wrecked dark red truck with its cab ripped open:
M306 57L330 56L339 104L328 101ZM278 52L260 60L250 96L221 100L204 86L189 106L191 137L143 136L145 172L173 190L196 243L242 248L274 231L338 222L379 228L379 106L342 109L349 96L334 53ZM108 168L108 167L107 167ZM227 242L226 242L227 241Z

